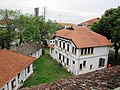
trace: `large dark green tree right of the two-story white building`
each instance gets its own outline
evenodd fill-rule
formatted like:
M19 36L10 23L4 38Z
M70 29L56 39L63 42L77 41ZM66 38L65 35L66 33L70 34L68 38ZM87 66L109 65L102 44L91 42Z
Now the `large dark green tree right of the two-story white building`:
M106 36L114 43L115 57L120 49L120 6L106 10L98 23L94 23L91 29Z

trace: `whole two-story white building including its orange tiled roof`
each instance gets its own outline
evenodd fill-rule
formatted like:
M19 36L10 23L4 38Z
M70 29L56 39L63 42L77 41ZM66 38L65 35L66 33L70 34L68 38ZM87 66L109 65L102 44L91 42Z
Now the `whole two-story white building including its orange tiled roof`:
M87 27L59 30L52 41L50 55L74 75L107 67L111 42Z

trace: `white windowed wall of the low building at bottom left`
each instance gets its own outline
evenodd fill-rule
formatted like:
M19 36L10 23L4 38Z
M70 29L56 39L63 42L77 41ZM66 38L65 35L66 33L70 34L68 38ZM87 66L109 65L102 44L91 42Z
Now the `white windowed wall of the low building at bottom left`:
M17 90L21 87L24 81L33 73L32 64L18 73L13 79L7 82L0 90Z

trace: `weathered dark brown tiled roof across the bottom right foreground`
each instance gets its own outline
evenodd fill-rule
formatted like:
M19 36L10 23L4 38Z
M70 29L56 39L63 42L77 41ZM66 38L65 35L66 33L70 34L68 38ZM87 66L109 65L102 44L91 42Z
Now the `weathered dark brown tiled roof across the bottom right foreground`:
M21 90L113 90L120 87L120 65Z

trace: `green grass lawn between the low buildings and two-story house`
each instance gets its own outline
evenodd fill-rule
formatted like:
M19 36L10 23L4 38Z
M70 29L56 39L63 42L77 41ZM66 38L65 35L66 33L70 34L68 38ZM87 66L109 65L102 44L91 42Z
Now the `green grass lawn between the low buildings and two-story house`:
M23 87L49 83L72 76L50 57L48 49L45 51L46 54L33 63L33 66L35 67L34 73L25 81Z

